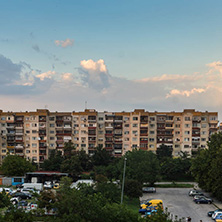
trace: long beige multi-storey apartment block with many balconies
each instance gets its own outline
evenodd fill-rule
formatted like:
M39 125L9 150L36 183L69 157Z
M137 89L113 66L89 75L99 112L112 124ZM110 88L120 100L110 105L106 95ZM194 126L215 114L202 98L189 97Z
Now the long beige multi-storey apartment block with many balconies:
M72 141L76 149L92 154L102 146L114 156L139 148L153 151L161 145L181 151L206 148L212 133L218 130L217 112L3 112L0 110L0 161L7 153L42 163L50 150L63 151Z

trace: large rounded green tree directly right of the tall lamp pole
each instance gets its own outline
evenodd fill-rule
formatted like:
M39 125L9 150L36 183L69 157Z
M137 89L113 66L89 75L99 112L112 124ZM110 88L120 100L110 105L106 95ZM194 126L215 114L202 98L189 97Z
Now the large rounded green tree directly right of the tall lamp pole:
M127 152L122 158L119 167L123 171L123 161L126 162L126 178L139 181L141 184L149 183L153 185L159 178L160 166L156 155L151 151L133 150Z

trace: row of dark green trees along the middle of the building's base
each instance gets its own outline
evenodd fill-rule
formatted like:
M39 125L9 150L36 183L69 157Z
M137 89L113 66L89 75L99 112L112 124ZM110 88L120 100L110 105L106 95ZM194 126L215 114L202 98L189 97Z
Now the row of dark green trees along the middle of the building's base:
M156 181L185 181L192 180L191 159L185 153L173 158L172 149L161 145L156 154L151 151L134 149L122 158L114 158L102 147L97 147L90 156L85 151L76 151L71 142L65 144L64 154L53 150L48 160L41 165L43 170L60 170L69 173L74 180L83 172L92 179L121 180L124 160L126 158L127 181L135 180L140 184L153 185ZM134 183L135 183L134 181Z

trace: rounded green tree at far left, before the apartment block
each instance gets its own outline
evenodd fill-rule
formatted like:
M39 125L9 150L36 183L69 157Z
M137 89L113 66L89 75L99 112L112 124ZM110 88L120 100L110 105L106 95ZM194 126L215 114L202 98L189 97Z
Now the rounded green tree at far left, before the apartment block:
M1 170L6 176L24 176L27 172L35 171L32 163L17 155L7 155L3 160Z

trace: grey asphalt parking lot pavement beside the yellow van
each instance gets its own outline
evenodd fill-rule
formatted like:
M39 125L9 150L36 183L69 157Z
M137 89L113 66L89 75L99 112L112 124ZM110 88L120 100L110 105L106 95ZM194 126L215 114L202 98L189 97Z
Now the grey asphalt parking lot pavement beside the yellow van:
M190 188L157 188L156 193L145 193L141 200L150 198L163 200L164 208L175 218L191 217L192 222L213 222L207 212L217 209L213 204L196 204L188 195ZM183 219L185 221L185 219Z

